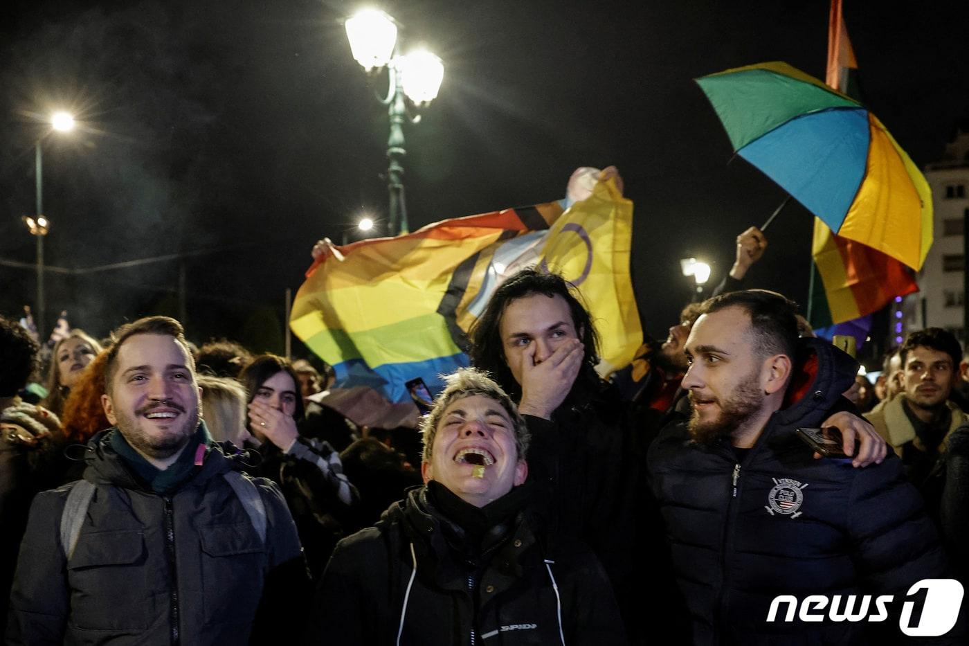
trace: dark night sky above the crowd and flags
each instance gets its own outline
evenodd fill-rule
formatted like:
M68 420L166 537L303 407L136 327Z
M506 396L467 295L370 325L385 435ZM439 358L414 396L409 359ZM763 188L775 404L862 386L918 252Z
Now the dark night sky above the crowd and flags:
M871 5L870 7L868 5ZM878 5L881 5L880 8ZM82 122L44 146L47 263L69 269L174 253L188 331L282 350L284 292L318 238L361 210L387 217L386 109L350 53L356 3L311 0L7 0L0 10L0 260L34 262L39 119ZM919 165L969 117L965 2L848 2L867 104ZM409 44L445 64L438 99L406 129L411 228L564 196L578 166L616 165L636 205L643 327L665 336L690 298L678 259L713 262L785 193L732 150L692 80L784 60L824 78L828 2L395 2ZM807 295L811 218L767 232L750 286ZM178 263L49 274L47 329L105 335L177 315ZM30 269L0 265L0 313L34 300Z

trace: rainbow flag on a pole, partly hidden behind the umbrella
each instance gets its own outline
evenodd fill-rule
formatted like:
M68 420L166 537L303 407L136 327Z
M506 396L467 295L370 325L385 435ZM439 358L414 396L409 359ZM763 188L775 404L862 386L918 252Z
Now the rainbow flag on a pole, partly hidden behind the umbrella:
M831 0L826 82L839 92L860 99L858 61L841 14L841 0ZM922 177L918 170L915 173ZM814 219L811 254L814 268L808 309L811 326L819 336L841 334L835 326L842 323L852 326L851 334L860 335L862 328L865 332L870 330L867 314L885 307L895 296L919 291L912 272L901 262L870 246L834 235L818 217ZM824 290L814 288L819 284L824 285Z

